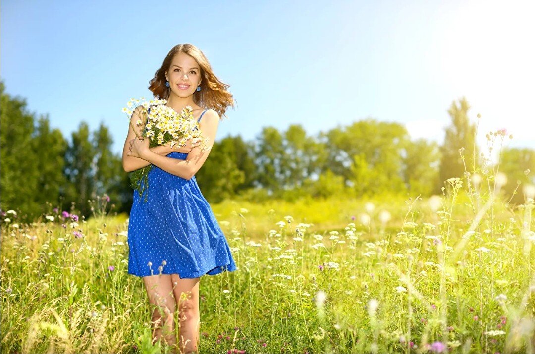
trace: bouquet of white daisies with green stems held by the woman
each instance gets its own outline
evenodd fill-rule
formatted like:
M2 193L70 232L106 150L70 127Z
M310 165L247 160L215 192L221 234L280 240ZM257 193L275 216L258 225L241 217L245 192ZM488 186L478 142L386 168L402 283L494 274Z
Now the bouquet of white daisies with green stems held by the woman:
M141 97L144 100L144 97ZM123 108L128 116L128 119L132 116L133 110L137 108L135 104L140 103L140 99L131 98L126 104L128 107ZM201 130L198 129L198 122L193 117L193 109L190 106L186 106L182 112L177 113L171 107L166 105L166 99L151 99L141 103L141 118L136 121L137 126L142 126L141 136L136 136L140 139L149 138L149 147L155 147L157 145L169 144L171 148L178 146L182 147L186 145L186 141L189 139L201 137ZM133 110L132 107L134 106ZM130 122L132 125L132 122ZM136 129L132 126L134 132ZM207 149L208 137L201 140L201 149L204 151ZM130 173L129 178L131 187L139 191L139 195L143 194L145 188L149 188L149 171L152 165L148 165L139 170ZM141 181L144 181L143 185ZM147 192L148 193L148 192ZM147 201L147 195L145 196L145 202Z

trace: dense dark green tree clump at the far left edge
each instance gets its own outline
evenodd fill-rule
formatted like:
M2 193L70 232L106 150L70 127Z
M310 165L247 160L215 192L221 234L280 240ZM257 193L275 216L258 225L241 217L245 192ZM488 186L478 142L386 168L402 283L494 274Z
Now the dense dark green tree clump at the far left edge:
M7 94L3 81L1 86L2 209L17 209L20 219L32 220L42 213L45 202L57 199L64 183L66 143L58 129L50 129L48 117L34 127L26 100Z

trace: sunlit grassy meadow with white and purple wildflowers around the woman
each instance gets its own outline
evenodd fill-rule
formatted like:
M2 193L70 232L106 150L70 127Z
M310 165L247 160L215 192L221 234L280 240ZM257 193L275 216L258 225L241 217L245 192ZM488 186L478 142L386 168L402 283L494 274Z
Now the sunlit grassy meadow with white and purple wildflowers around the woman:
M201 278L200 352L533 353L533 199L510 205L501 184L212 205L238 270ZM127 216L93 213L7 212L3 352L167 352L127 274Z

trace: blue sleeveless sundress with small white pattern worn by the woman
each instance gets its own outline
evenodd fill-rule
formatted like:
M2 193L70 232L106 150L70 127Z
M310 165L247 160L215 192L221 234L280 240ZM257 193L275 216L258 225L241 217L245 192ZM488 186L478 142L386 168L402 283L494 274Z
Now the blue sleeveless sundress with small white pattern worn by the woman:
M188 154L173 151L166 156L185 160ZM195 176L186 180L153 165L148 181L143 195L134 190L128 221L128 274L147 276L162 271L198 278L235 271L225 235Z

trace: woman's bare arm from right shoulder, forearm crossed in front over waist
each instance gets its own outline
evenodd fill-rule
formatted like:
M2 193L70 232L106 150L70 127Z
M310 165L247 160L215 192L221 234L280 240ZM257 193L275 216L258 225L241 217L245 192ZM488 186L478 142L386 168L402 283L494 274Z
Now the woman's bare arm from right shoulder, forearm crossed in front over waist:
M208 136L208 149L202 151L201 147L195 147L188 153L185 160L161 156L150 149L144 150L141 158L166 172L189 180L200 170L208 158L213 142L216 140L218 125L219 114L216 111L209 110L204 113L203 119L199 122L199 129L201 129L203 136ZM135 144L140 144L139 140L135 140Z

